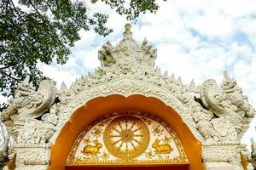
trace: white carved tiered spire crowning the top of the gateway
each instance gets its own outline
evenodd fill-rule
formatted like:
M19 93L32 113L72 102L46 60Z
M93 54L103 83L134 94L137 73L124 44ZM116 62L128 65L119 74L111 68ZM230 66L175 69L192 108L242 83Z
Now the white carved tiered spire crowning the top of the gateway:
M111 42L106 42L99 50L98 59L101 60L102 67L112 65L134 65L148 66L154 69L154 60L157 57L156 48L147 40L138 43L132 38L131 24L125 24L123 39L113 46Z

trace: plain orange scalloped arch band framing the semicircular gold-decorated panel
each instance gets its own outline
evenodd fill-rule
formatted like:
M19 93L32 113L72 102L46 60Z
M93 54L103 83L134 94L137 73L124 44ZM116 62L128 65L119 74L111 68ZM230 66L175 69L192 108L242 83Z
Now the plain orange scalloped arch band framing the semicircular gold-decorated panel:
M70 117L69 122L61 129L61 133L51 147L49 170L65 170L67 156L72 149L75 139L91 122L114 111L144 111L152 116L165 120L177 133L183 149L189 159L189 169L201 170L201 143L195 139L189 127L170 106L165 105L160 99L132 95L125 98L122 95L110 95L91 99L86 105L80 107Z

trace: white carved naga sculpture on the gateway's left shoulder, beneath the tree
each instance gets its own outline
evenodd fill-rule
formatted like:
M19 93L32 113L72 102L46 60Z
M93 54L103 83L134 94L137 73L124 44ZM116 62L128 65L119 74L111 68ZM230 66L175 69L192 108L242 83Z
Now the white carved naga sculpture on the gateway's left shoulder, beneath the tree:
M7 126L9 133L15 134L16 137L26 119L42 116L54 104L56 95L54 82L44 80L36 91L29 82L29 77L26 77L18 85L9 107L1 115L1 120Z

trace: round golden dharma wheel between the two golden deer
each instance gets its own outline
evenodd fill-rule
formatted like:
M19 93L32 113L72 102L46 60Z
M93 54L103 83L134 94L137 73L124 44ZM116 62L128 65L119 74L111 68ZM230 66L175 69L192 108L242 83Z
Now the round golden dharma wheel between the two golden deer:
M108 123L103 140L113 156L134 159L147 150L150 134L147 125L137 116L119 116Z

